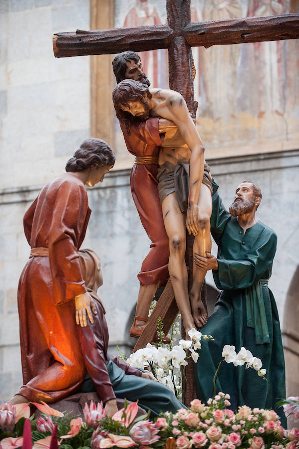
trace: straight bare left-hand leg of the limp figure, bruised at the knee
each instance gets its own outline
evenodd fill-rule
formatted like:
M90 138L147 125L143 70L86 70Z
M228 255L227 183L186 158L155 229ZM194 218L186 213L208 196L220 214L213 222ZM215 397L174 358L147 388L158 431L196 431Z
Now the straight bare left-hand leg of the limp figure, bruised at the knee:
M182 214L175 193L167 195L162 201L162 212L165 229L169 238L168 270L173 286L175 299L182 314L186 331L195 327L188 294L188 273L185 262L186 251L186 218ZM188 338L188 337L187 337Z

